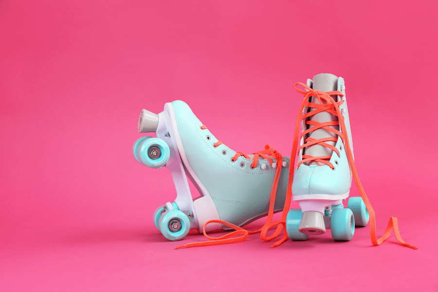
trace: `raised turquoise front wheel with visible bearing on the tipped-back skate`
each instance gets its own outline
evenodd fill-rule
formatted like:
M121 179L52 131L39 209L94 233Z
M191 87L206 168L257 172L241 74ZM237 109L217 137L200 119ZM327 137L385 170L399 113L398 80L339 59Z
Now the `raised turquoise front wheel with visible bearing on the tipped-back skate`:
M169 146L160 138L149 138L138 147L138 158L148 167L159 168L169 160Z

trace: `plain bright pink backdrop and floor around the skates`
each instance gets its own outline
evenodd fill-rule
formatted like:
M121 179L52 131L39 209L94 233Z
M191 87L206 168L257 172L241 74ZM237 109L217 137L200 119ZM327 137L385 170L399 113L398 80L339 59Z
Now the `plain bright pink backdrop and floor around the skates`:
M435 1L23 2L0 2L1 291L438 290ZM345 77L378 234L396 216L419 249L366 227L174 250L204 238L153 226L175 190L132 157L140 110L181 99L233 149L290 155L317 73Z

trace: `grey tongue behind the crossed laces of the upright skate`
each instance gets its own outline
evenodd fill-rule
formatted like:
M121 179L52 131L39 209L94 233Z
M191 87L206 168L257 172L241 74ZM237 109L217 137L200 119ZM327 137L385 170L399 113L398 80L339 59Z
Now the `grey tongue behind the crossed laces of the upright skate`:
M321 74L317 74L313 77L312 80L312 89L313 90L319 90L319 91L336 91L338 88L338 77L336 77L333 74L329 74L329 73L321 73ZM336 95L332 95L332 97L335 99L336 101ZM319 101L316 97L312 96L311 99L312 103L315 104L319 104ZM314 108L312 108L312 110L314 110ZM324 123L324 122L330 122L330 121L337 121L338 118L327 112L327 111L323 111L323 112L319 112L315 115L312 115L309 117L309 120L311 121L316 121L319 123ZM312 128L313 126L308 126L309 128ZM334 128L336 130L339 130L338 126L330 126L331 128ZM312 132L310 132L310 138L314 138L314 139L322 139L322 138L327 138L327 137L334 137L337 138L337 135L329 132L328 130L325 130L323 128L319 128L317 130L314 130ZM307 137L305 137L307 138ZM334 146L336 143L334 141L327 141L325 142L329 145ZM316 144L316 145L312 145L309 147L306 147L304 149L304 154L305 155L311 155L314 157L317 156L331 156L331 154L333 153L333 150L331 150L328 147ZM306 163L307 165L326 165L320 162L309 162Z

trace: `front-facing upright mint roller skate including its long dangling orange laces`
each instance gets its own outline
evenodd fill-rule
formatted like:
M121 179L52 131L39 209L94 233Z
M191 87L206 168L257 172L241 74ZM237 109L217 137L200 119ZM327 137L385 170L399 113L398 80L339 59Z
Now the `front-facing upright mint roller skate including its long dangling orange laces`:
M300 90L301 85L305 90ZM309 235L321 235L331 230L336 241L353 238L355 226L364 227L370 220L371 241L380 245L392 231L405 246L400 236L397 218L391 217L383 237L377 239L375 214L360 183L354 165L353 145L348 117L345 82L333 74L318 74L307 85L296 83L295 89L304 95L295 125L293 159L291 161L292 200L301 209L291 209L286 218L286 230L292 240L307 240ZM299 138L298 128L302 133ZM299 162L292 174L294 155ZM361 197L347 200L354 178Z

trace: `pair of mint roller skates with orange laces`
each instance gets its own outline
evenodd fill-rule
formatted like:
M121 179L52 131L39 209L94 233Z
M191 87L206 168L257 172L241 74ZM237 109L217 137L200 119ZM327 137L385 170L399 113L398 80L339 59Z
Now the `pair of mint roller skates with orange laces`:
M138 131L155 132L156 137L138 139L133 155L148 167L169 169L177 191L174 202L159 206L153 214L154 224L164 237L181 240L190 229L206 236L213 230L236 230L223 237L207 236L211 241L184 245L190 247L241 241L256 232L262 239L271 240L285 227L283 238L274 246L288 237L307 240L309 235L324 234L328 228L334 240L348 241L355 226L366 226L371 216L373 244L387 238L375 236L374 211L354 166L344 79L323 73L308 79L307 85L300 84L305 90L297 89L298 83L295 89L304 100L291 157L282 156L269 145L251 155L230 149L182 101L166 103L158 115L142 110ZM302 133L298 137L300 124ZM299 162L294 172L297 150ZM345 207L352 177L360 185L361 197L350 198ZM194 200L187 178L200 193ZM291 200L298 201L301 209L289 210ZM280 221L272 222L273 214L280 211ZM260 230L241 228L264 216L268 218ZM396 223L395 219L391 226L397 236ZM277 230L267 237L268 229L276 225Z

